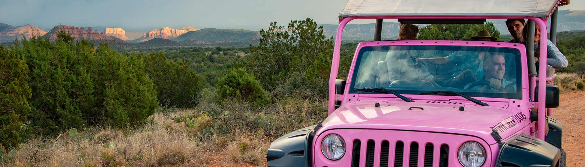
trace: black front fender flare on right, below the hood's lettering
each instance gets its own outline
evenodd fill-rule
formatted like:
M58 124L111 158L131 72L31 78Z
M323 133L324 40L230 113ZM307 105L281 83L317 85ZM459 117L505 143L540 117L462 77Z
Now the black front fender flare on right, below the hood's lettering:
M560 149L528 134L504 142L495 166L558 166Z

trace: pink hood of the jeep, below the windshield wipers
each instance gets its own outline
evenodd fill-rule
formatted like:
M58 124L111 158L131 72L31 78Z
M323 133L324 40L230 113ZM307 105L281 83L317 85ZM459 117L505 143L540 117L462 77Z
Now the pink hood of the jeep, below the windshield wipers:
M375 103L380 107L374 107ZM463 111L460 106L464 106ZM530 123L527 111L507 108L507 104L477 106L469 101L449 104L359 100L330 114L317 134L335 128L412 130L473 135L493 144L491 127L497 128L505 139Z

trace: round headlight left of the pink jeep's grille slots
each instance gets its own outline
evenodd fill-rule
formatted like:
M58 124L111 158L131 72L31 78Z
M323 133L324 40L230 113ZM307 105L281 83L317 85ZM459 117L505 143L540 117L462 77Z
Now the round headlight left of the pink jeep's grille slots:
M343 138L336 134L327 135L321 141L321 152L326 158L337 160L345 154L345 142Z

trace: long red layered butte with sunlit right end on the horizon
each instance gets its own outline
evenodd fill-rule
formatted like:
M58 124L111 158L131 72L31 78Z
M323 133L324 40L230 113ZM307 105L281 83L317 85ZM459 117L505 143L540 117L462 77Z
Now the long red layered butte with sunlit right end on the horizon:
M75 40L79 40L81 38L92 41L94 43L105 42L109 43L110 46L115 47L123 47L128 46L129 44L126 41L118 39L114 36L106 36L104 33L98 33L97 30L91 29L91 27L87 27L87 30L84 27L75 27L75 26L55 26L51 29L47 34L44 34L43 37L49 38L50 41L55 41L57 39L57 32L63 30L65 33L70 34L71 37L74 37Z

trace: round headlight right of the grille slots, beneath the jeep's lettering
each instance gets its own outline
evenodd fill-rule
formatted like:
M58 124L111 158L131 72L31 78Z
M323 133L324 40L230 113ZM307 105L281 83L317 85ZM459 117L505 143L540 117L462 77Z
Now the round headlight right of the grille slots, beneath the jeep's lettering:
M486 150L481 144L468 141L459 147L457 151L457 159L459 163L466 167L479 167L486 162Z

